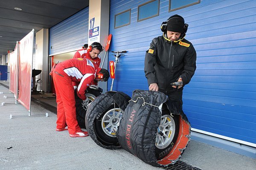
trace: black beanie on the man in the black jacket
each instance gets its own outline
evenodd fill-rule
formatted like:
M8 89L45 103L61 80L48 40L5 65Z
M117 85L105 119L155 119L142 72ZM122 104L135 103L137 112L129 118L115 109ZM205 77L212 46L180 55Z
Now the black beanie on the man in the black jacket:
M169 17L169 21L167 22L167 31L179 32L183 33L184 31L184 18L180 15L173 15Z

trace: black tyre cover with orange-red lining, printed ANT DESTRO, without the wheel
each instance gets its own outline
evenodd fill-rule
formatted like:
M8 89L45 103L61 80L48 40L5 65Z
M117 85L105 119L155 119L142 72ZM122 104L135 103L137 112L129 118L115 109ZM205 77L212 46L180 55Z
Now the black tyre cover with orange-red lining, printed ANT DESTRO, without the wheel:
M122 148L154 167L175 164L190 141L190 123L181 109L182 103L166 101L169 101L168 96L157 91L133 91L116 133ZM160 109L165 102L172 114L180 114L180 132L172 150L157 161L155 139Z

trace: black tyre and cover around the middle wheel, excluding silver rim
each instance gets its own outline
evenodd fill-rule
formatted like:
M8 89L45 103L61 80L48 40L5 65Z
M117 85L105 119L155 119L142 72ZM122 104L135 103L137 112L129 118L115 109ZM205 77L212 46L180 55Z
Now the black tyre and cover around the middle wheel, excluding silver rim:
M120 149L120 145L117 141L116 134L115 137L108 136L102 130L102 118L108 111L122 110L124 111L128 105L128 101L131 98L122 93L109 91L105 94L98 96L87 109L87 114L85 118L85 126L90 137L96 144L106 149ZM105 127L106 128L106 127Z

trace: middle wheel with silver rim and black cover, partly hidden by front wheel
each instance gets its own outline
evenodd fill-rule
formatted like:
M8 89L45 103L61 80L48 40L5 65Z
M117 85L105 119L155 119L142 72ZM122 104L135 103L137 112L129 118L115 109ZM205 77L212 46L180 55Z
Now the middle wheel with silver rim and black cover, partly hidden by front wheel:
M112 150L121 148L116 138L116 130L130 99L122 92L109 91L90 104L85 126L96 144Z

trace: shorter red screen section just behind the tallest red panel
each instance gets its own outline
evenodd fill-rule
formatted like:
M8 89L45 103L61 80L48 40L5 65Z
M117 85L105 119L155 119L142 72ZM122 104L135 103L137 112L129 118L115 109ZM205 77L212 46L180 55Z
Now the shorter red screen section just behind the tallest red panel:
M18 73L18 42L15 50L10 54L10 85L9 90L15 95L17 100L17 73Z

